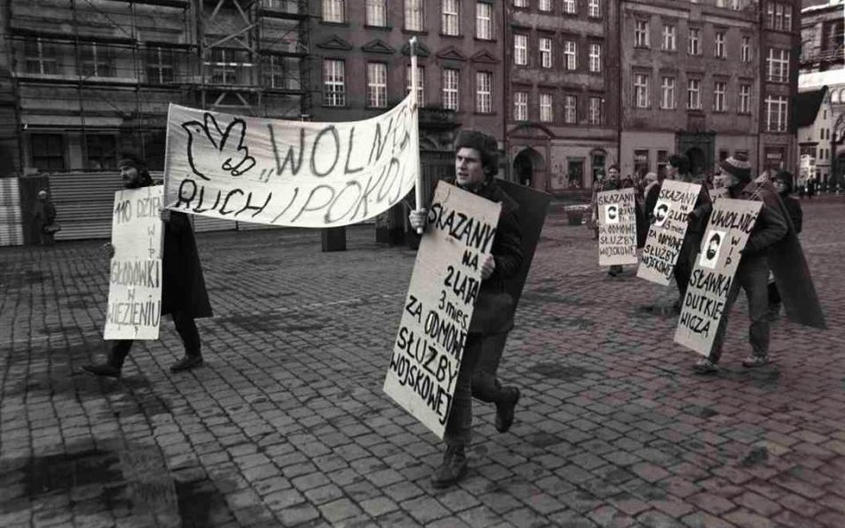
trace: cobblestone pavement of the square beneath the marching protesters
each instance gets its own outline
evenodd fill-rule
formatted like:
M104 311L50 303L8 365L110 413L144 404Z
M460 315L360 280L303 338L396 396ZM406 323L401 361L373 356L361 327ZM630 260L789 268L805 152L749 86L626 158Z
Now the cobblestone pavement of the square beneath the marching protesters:
M501 377L510 433L477 404L471 470L429 483L437 439L381 392L414 253L349 230L199 235L216 316L206 365L171 374L172 324L119 381L99 242L0 251L0 526L845 527L845 201L803 202L831 329L773 327L746 371L745 303L718 377L672 343L671 288L612 279L546 224ZM651 311L647 306L656 306Z

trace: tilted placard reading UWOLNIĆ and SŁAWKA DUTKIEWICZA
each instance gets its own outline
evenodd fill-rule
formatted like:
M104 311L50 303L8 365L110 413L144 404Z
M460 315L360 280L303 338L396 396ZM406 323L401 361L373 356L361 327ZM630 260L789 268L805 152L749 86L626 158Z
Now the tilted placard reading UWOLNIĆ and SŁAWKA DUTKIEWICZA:
M729 198L720 198L713 204L701 253L686 288L675 331L676 343L705 356L710 354L740 252L762 205L759 201Z

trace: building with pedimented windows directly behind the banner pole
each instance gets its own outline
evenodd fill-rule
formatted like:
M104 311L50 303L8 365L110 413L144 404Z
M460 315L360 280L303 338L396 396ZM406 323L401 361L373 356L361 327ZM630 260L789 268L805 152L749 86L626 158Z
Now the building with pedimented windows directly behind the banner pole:
M311 15L313 120L370 118L400 102L416 37L426 177L454 175L458 127L493 134L504 149L503 0L320 0Z

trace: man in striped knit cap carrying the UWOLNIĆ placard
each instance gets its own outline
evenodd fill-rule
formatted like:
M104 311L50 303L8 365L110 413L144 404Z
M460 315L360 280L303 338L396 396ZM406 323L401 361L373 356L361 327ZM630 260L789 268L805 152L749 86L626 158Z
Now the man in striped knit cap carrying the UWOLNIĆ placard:
M751 341L751 355L742 361L747 368L760 367L768 362L768 262L766 251L772 245L782 240L789 232L787 223L778 207L770 207L767 203L777 201L777 197L768 191L766 186L751 182L751 165L748 159L736 154L719 164L725 175L725 186L728 196L733 199L758 200L763 202L760 207L757 222L751 229L742 257L736 268L734 280L727 294L722 319L719 321L716 337L710 356L701 358L694 367L699 374L718 372L718 361L722 356L722 345L725 343L728 316L734 306L740 288L745 290L748 297L748 316L751 319L749 340Z

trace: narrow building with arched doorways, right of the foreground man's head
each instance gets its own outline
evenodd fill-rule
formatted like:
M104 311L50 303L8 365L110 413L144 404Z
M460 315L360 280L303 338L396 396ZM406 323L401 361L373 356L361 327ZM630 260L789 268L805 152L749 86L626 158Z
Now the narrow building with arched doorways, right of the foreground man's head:
M588 189L617 155L615 0L511 0L507 142L513 175Z

